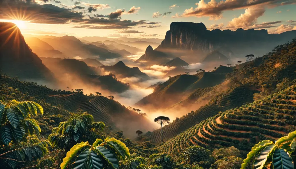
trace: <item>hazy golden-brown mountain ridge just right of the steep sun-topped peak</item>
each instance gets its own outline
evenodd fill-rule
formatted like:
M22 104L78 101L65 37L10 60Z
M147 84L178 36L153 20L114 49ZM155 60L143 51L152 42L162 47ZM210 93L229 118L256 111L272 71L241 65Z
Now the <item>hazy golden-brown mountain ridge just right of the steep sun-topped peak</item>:
M84 44L74 36L63 36L55 38L41 38L54 49L61 51L67 57L81 58L97 57L99 60L114 59L121 57L118 53L109 52L107 49L100 48L92 44Z

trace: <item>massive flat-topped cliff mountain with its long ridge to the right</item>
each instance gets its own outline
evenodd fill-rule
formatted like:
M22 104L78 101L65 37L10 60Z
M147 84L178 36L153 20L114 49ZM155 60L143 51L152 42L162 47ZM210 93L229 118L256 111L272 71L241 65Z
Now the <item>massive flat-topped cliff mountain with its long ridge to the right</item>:
M172 22L165 39L157 49L197 50L197 57L223 47L237 56L266 54L274 46L284 44L296 37L296 30L281 34L268 34L267 30L207 30L203 23Z

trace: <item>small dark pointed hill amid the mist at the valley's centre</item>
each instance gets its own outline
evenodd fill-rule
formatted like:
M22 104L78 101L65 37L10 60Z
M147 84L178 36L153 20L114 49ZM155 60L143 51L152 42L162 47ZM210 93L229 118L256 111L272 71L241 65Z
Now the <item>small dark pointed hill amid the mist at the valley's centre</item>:
M141 72L138 67L128 67L122 61L117 62L113 66L101 66L105 71L111 72L120 78L137 77L142 80L148 80L149 76Z

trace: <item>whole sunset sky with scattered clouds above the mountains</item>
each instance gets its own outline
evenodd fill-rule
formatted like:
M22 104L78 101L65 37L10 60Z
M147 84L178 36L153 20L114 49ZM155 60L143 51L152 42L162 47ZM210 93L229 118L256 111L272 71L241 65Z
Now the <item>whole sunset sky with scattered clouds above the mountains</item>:
M296 0L0 0L23 34L161 38L171 22L212 29L296 30Z

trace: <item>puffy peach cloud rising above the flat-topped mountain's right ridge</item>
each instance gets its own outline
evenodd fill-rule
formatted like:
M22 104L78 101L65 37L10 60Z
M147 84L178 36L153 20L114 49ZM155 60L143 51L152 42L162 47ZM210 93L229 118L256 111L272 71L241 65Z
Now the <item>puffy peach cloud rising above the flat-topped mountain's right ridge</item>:
M262 16L265 12L263 6L254 6L245 10L244 14L239 17L233 18L226 28L246 28L254 25L257 18Z

